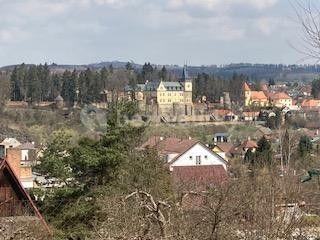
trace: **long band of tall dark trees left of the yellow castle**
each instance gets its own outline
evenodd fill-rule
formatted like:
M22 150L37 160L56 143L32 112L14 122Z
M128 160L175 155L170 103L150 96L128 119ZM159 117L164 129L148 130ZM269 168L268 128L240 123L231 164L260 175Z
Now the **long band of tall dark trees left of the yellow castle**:
M144 83L146 80L172 80L165 67L157 69L146 63L141 71L130 63L125 69L112 65L101 70L69 71L52 73L47 64L14 68L10 76L10 99L13 101L53 101L61 95L67 103L89 103L102 100L104 90L122 90L126 85Z

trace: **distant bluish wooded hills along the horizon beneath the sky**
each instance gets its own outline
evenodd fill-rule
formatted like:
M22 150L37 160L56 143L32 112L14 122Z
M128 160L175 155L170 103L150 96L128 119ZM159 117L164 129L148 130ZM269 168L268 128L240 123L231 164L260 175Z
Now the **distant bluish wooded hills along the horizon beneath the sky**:
M140 70L143 65L130 62L134 69ZM66 65L66 64L51 64L49 68L52 72L63 72L65 70L77 71L85 70L86 68L101 69L112 65L114 69L125 68L127 62L108 61L100 63L91 63L87 65ZM26 64L31 66L32 64ZM12 71L17 65L1 67L1 71ZM154 67L162 68L163 65L153 64ZM165 65L167 70L174 74L181 74L182 66ZM200 73L216 74L220 76L230 77L234 73L247 75L251 80L268 80L274 78L277 81L312 81L320 74L320 65L283 65L283 64L250 64L238 63L229 65L206 65L206 66L189 66L189 74L196 76Z

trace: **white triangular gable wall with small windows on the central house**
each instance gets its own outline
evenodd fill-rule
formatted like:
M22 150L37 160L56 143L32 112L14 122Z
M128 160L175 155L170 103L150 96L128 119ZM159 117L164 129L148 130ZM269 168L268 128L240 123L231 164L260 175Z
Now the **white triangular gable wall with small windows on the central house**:
M192 156L192 159L190 159L190 156ZM227 170L226 162L221 160L217 153L197 143L170 164L170 171L173 170L174 166L197 166L196 156L201 156L201 165L223 165L224 169Z

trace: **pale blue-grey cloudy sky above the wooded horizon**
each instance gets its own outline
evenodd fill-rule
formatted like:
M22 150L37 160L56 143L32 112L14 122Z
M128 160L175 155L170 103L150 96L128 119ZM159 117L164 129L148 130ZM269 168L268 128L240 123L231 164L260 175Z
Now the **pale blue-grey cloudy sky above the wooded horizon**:
M303 64L290 0L0 0L0 65Z

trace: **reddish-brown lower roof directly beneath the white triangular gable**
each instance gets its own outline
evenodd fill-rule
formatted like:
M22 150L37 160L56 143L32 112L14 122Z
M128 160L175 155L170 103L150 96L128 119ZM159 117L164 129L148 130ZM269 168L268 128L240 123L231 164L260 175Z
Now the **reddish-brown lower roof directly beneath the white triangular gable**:
M222 165L202 165L173 167L173 181L175 184L212 185L225 182L227 171Z

